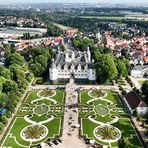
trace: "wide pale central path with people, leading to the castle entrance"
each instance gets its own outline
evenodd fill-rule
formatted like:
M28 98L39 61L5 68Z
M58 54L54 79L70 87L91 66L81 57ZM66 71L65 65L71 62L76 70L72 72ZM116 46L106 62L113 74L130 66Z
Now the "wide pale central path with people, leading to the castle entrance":
M78 104L78 93L75 91L76 86L73 80L66 85L66 108L64 114L64 125L62 140L63 143L54 146L55 148L87 148L88 146L79 139L79 129L72 128L78 124L77 108L69 108L69 105ZM74 110L76 112L74 112Z

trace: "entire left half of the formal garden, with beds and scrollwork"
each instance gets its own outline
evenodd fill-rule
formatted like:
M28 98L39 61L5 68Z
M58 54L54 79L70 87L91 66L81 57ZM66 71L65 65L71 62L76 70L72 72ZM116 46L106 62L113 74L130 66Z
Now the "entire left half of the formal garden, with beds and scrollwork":
M61 136L64 97L65 94L61 90L29 92L16 114L2 147L28 148L49 138Z

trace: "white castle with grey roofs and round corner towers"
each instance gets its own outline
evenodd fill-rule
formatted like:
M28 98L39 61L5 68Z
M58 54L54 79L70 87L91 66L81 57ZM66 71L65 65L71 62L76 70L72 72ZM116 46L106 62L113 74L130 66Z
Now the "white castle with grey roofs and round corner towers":
M69 82L73 77L75 82L94 83L96 70L94 60L91 60L89 48L87 51L58 51L55 60L49 67L49 79L53 83Z

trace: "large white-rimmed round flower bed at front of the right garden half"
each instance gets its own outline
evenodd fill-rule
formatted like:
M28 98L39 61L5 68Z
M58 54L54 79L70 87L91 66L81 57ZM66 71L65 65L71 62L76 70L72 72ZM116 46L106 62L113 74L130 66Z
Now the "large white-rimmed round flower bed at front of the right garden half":
M112 125L101 125L94 129L95 137L103 142L117 142L121 138L121 132Z

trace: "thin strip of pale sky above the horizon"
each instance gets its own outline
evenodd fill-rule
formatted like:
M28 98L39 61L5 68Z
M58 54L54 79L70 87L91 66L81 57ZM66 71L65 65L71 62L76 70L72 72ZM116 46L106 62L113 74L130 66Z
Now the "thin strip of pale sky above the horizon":
M40 2L64 2L69 3L69 0L0 0L0 4L6 3L40 3ZM84 2L84 3L146 3L148 0L74 0L72 2Z

